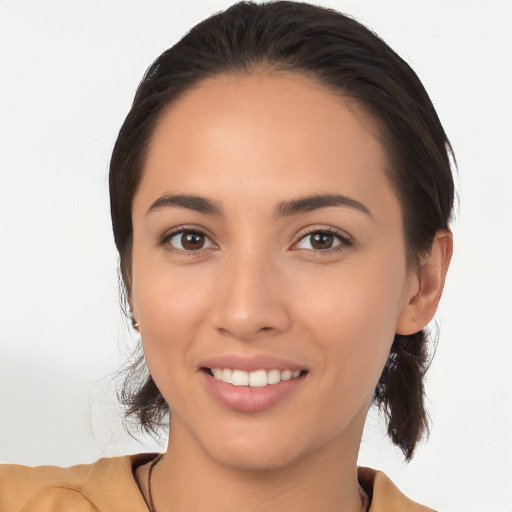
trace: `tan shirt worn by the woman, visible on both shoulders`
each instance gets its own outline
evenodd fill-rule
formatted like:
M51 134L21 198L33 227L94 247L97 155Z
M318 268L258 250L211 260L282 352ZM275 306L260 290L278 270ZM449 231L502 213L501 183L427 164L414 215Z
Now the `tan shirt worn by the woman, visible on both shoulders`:
M0 465L1 512L148 512L133 476L147 454L70 468ZM359 468L370 512L432 512L406 498L382 472Z

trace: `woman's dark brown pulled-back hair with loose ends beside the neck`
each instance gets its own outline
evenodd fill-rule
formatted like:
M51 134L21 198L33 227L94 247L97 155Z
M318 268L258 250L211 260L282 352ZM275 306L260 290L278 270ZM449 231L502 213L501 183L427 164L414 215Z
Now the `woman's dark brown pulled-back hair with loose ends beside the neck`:
M240 2L196 25L144 76L115 144L110 165L114 238L127 293L131 287L132 200L152 133L166 107L198 82L267 68L300 73L350 98L376 121L400 199L410 265L447 228L454 185L451 147L420 80L389 46L354 19L295 2ZM428 430L423 377L427 336L396 335L374 402L388 433L410 459ZM142 356L121 398L145 430L165 425L169 407Z

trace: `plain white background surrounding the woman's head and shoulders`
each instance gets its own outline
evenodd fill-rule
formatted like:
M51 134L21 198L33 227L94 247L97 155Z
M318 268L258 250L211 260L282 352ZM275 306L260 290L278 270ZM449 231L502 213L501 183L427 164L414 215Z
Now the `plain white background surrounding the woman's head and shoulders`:
M512 2L321 2L380 34L453 143L455 256L412 463L371 416L360 462L445 511L512 510ZM225 1L0 0L0 460L158 449L123 432L107 170L149 63ZM161 449L161 448L160 448Z

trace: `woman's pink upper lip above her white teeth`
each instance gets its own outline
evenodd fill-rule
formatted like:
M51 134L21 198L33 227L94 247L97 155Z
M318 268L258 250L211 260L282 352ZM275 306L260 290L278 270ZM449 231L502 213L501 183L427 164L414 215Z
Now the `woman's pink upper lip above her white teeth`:
M230 368L232 370L243 370L246 372L254 372L256 370L305 370L306 368L288 359L270 355L242 355L242 354L224 354L210 357L202 361L199 366L201 368Z

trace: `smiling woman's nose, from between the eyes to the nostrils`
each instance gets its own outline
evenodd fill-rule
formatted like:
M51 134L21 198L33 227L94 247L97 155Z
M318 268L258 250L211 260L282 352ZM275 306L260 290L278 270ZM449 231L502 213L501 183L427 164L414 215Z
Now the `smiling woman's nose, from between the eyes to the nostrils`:
M285 332L291 323L284 269L258 254L226 260L212 311L224 336L253 341Z

